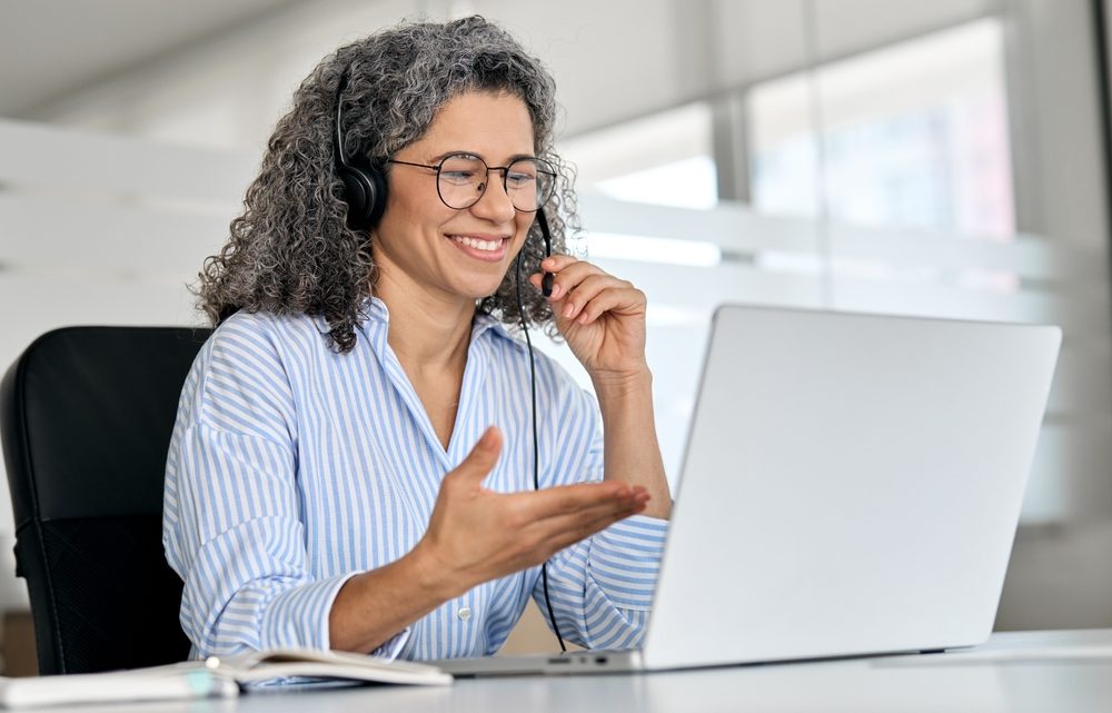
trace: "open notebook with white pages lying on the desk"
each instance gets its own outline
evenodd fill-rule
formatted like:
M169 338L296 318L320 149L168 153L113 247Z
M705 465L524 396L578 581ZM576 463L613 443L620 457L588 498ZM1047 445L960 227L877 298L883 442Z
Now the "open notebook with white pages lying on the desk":
M448 685L451 676L434 666L408 661L279 648L109 673L0 677L0 705L22 709L70 703L232 697L241 690L278 681Z

